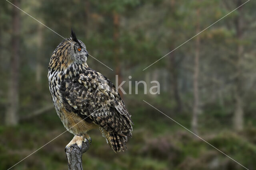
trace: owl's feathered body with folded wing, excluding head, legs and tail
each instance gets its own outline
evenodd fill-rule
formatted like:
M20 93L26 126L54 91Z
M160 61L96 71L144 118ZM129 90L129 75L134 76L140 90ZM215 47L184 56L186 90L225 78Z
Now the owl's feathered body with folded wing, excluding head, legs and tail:
M132 136L131 115L108 78L81 63L62 70L49 69L48 78L52 100L64 126L69 124L66 117L71 116L87 125L97 125L105 133L117 134L117 138ZM80 129L76 131L86 131ZM112 136L109 142L116 138Z

